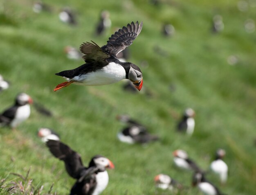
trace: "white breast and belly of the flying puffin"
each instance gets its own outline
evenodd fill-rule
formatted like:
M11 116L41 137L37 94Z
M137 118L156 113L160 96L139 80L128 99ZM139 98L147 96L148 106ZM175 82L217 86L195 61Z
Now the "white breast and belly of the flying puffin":
M73 81L78 81L76 84L82 85L108 85L116 83L126 78L124 68L114 62L109 63L107 66L87 74L74 77Z

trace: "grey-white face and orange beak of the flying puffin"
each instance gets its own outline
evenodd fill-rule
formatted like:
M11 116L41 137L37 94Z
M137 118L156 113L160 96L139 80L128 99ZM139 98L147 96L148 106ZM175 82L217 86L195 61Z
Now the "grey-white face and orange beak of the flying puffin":
M130 63L130 70L128 72L128 79L130 81L132 81L133 85L135 86L135 88L137 88L137 90L141 90L142 88L142 72L139 69L138 66L136 66L135 64Z

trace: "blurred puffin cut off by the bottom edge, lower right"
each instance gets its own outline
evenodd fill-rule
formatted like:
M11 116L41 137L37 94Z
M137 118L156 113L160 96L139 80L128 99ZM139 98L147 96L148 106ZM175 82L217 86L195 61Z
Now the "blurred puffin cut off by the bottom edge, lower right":
M198 186L204 195L222 195L219 189L211 184L201 172L195 172L192 177L192 185Z

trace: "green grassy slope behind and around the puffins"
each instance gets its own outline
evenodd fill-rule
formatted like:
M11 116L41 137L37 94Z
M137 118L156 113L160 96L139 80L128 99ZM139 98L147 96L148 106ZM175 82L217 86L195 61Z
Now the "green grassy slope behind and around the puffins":
M34 184L44 185L45 192L54 183L58 194L68 193L74 180L63 170L63 163L52 158L36 138L38 127L46 126L59 132L63 142L79 151L85 164L95 154L114 162L116 169L109 171L110 183L103 194L158 194L153 186L153 177L158 173L169 174L190 186L191 173L175 169L171 152L185 149L207 169L219 147L227 150L229 180L220 186L216 177L209 175L211 181L227 194L255 193L256 36L243 28L247 18L255 18L255 8L240 13L236 1L221 0L215 4L179 1L159 7L146 4L146 0L45 2L53 6L52 13L33 13L29 0L1 2L4 9L0 15L0 73L12 85L0 94L0 110L11 105L17 92L23 91L54 113L54 118L47 118L32 108L31 117L17 131L1 129L3 178L11 180L15 177L9 173L25 174L31 167L29 177ZM78 26L73 28L58 20L58 11L65 5L77 11ZM93 29L102 9L110 11L113 27L97 38ZM215 13L220 13L225 22L225 31L218 35L209 31ZM67 59L64 46L78 47L91 39L103 45L115 26L136 20L142 20L144 27L130 47L130 61L139 66L141 61L148 61L148 68L141 70L152 98L124 92L122 83L72 85L56 93L52 91L63 82L54 76L55 72L83 63ZM175 26L173 38L166 39L159 33L164 22ZM154 53L156 45L166 56ZM227 64L229 55L238 56L237 66ZM168 90L171 83L175 92ZM175 116L185 107L193 107L197 113L192 138L175 132ZM122 113L146 124L161 141L146 147L120 143L116 133L123 125L115 121L115 116ZM198 190L193 188L186 194L196 195Z

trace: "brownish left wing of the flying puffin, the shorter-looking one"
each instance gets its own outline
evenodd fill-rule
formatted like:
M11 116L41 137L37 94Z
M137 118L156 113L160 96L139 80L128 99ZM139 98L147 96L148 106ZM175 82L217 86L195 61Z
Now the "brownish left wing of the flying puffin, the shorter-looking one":
M86 42L81 44L80 51L84 54L83 59L85 62L95 62L97 61L98 64L102 64L106 66L108 62L106 61L110 55L104 52L96 43L92 41L92 43Z

